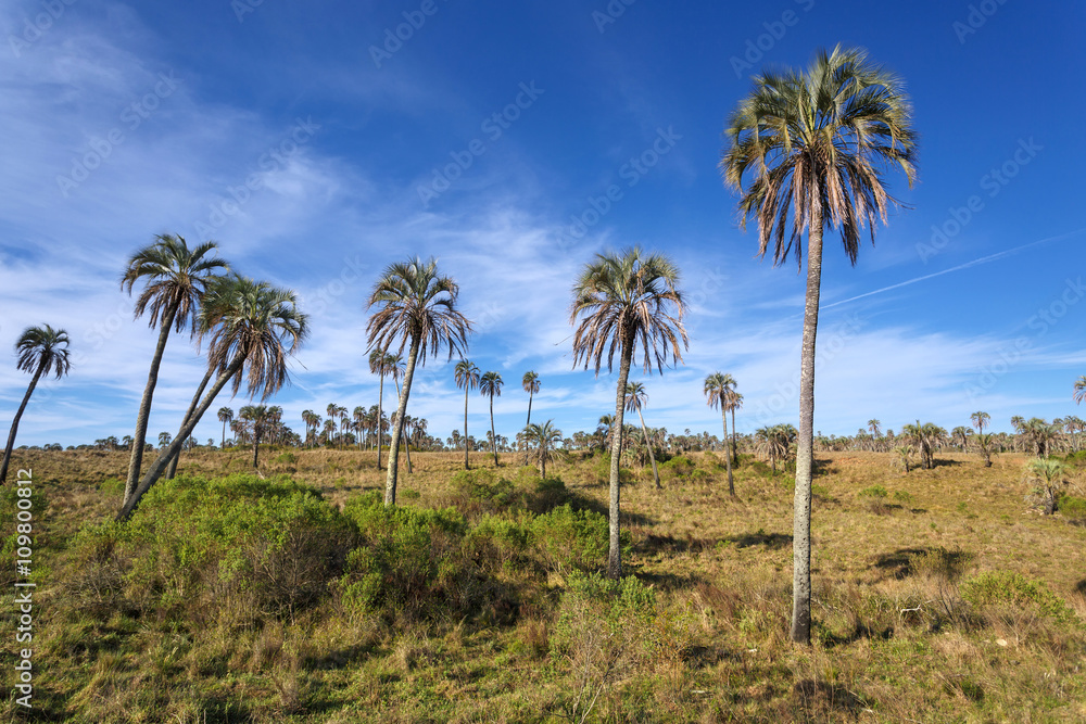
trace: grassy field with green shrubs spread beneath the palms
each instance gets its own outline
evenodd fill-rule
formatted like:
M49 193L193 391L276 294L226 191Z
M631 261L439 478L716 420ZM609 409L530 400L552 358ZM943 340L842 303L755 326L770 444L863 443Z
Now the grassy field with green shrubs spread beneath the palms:
M34 469L46 506L36 508L36 709L9 700L0 716L1086 720L1086 528L1028 510L1020 456L984 468L950 454L902 474L889 454L819 454L816 642L797 648L787 642L792 481L762 463L735 470L736 498L720 456L687 454L691 465L661 469L659 491L651 469L630 471L632 577L613 590L592 577L604 564L592 545L607 500L598 458L560 462L552 474L564 485L541 486L513 455L494 470L488 454L473 454L480 472L465 477L463 453L413 453L400 499L417 513L391 520L367 512L365 496L383 490L375 454L283 453L262 449L267 481L182 481L178 491L203 497L162 496L144 516L153 507L157 522L124 534L100 524L118 506L125 454L17 450L14 469ZM179 472L243 480L228 475L245 471L250 454L186 454ZM239 498L228 508L209 499L214 490L294 496L265 506L282 534L258 522L217 525L200 511L257 507ZM566 504L571 512L547 513ZM332 545L298 521L356 537ZM175 524L193 537L164 533ZM279 538L293 543L276 547ZM564 555L567 538L583 543L576 557ZM341 555L351 546L387 555ZM315 568L310 550L319 551ZM394 562L408 554L414 568ZM11 569L0 574L5 646ZM295 580L308 598L283 597ZM352 584L363 592L354 598L344 595ZM380 586L388 590L374 594Z

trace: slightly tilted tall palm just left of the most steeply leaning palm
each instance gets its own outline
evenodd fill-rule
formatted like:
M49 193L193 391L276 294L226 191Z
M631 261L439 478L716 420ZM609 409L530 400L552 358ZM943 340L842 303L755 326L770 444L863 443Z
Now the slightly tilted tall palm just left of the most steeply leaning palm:
M195 333L195 312L212 276L228 265L220 258L211 256L218 247L213 241L190 250L184 237L159 234L155 242L137 250L128 257L128 265L121 277L121 290L131 294L136 282L144 280L143 292L136 300L135 316L150 313L151 329L159 328L159 341L151 357L143 398L136 417L136 432L132 435L131 458L128 462L128 478L125 482L125 503L132 495L143 462L143 442L147 439L148 417L151 399L159 381L159 366L166 348L166 338L171 327L180 332L188 323Z

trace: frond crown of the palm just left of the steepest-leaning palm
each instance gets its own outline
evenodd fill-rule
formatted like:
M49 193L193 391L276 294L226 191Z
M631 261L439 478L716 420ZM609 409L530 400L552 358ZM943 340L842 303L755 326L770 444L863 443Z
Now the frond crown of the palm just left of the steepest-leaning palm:
M224 259L211 256L217 247L214 241L207 241L190 250L181 236L159 234L153 244L137 250L128 257L121 277L121 289L129 294L137 281L147 280L136 300L135 316L141 317L150 310L149 323L153 329L166 319L171 309L176 309L174 329L180 332L188 322L195 333L194 312L207 281L216 270L229 269Z

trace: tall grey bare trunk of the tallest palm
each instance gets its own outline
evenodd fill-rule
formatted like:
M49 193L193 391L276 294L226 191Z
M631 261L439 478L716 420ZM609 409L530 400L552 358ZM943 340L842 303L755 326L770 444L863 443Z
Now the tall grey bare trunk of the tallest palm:
M817 199L818 196L816 196ZM807 234L807 301L799 366L799 437L792 529L792 640L811 642L811 477L815 467L815 335L822 283L822 209L812 204Z

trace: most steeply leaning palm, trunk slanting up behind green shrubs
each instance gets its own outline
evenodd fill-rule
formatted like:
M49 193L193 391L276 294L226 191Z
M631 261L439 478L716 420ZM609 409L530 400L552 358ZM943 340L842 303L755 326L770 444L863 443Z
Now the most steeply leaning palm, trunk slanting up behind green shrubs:
M260 393L262 399L267 399L290 381L287 358L310 332L308 317L298 309L294 292L244 277L236 277L231 284L216 285L214 296L204 299L200 325L211 334L209 364L219 374L200 407L144 473L122 506L117 520L131 516L227 382L233 381L237 394L244 379L250 396Z

